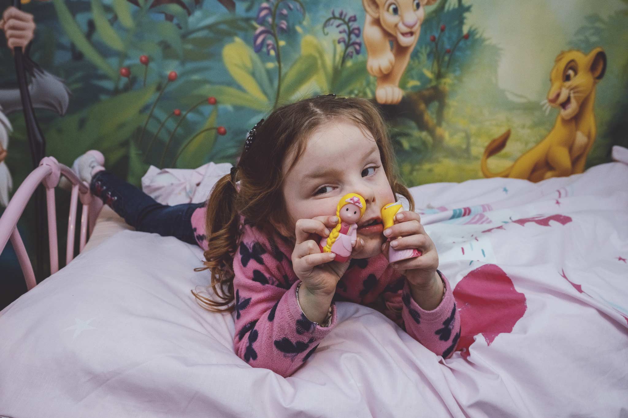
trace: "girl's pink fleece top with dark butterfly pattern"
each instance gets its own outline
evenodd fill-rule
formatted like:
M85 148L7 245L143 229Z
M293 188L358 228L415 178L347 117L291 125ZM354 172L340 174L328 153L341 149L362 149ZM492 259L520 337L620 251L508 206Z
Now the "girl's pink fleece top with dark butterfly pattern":
M207 249L205 207L192 215L198 245ZM425 311L411 296L408 281L388 265L383 254L351 260L338 281L328 326L311 322L299 307L292 269L293 246L280 235L268 237L259 228L241 222L234 258L236 334L234 349L252 367L269 368L288 377L317 349L337 324L335 301L359 303L383 313L414 340L445 358L460 338L460 314L452 288L437 308Z

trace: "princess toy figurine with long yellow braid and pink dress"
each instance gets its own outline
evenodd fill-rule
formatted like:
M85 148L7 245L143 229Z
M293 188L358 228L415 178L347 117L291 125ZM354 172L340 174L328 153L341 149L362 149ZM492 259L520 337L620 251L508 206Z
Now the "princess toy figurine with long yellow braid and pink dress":
M336 216L338 225L333 228L329 237L323 238L318 246L321 252L333 252L336 261L349 260L353 250L352 241L357 240L357 221L364 215L366 201L356 193L347 193L338 202Z

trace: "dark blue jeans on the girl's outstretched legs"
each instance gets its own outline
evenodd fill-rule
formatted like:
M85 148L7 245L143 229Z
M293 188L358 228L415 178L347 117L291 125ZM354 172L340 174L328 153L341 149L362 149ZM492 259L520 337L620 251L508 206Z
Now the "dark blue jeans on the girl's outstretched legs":
M192 230L192 213L205 206L205 202L162 205L107 170L94 174L90 191L138 231L154 232L197 244Z

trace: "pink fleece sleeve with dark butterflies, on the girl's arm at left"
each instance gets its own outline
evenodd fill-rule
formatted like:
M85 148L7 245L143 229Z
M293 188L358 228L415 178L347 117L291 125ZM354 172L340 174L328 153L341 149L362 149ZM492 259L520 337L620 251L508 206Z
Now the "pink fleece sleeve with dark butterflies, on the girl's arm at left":
M294 276L290 259L261 233L247 229L234 258L234 349L252 367L288 377L337 323L335 304L328 326L306 318L296 298L301 281Z

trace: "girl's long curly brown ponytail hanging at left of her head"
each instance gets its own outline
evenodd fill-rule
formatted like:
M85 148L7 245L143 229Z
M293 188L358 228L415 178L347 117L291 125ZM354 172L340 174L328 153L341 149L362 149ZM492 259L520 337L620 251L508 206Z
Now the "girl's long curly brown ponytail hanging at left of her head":
M234 300L233 260L237 250L239 214L235 210L237 190L231 175L222 176L212 188L207 200L207 216L205 231L207 233L207 250L205 267L195 271L209 269L212 272L211 286L215 301L192 291L192 294L205 304L203 308L212 312L232 312L234 306L223 308ZM222 309L220 309L222 308Z

